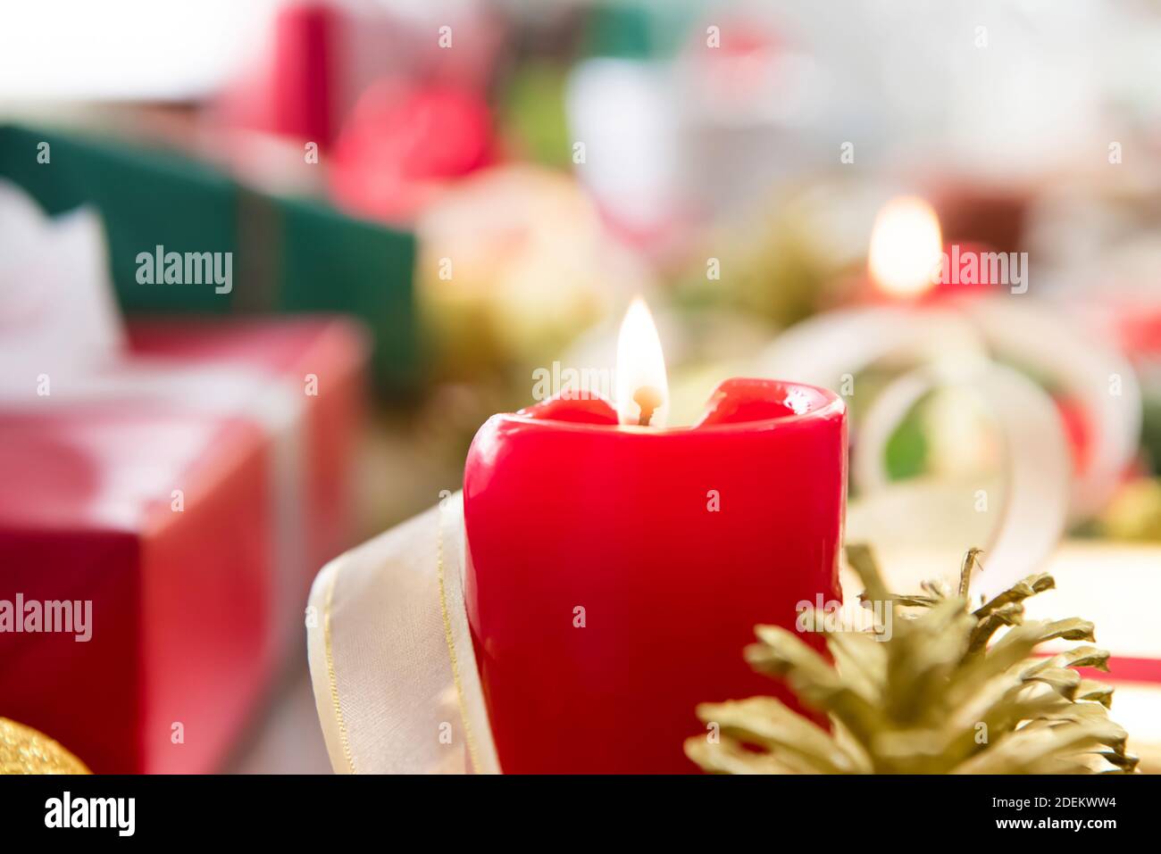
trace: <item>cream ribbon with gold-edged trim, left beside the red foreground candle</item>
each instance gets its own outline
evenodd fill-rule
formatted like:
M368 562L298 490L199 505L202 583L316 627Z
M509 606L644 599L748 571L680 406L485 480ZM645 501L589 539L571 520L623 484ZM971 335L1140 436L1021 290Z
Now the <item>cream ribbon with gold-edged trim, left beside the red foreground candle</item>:
M334 770L499 770L463 603L462 494L327 564L307 652Z

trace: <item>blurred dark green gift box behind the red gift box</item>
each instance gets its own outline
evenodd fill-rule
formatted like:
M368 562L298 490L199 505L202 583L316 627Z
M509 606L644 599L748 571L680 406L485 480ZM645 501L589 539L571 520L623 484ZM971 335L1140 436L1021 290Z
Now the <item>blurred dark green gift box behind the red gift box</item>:
M58 130L0 126L0 179L49 214L100 210L127 314L349 314L372 333L381 391L419 383L413 234L243 187L173 151ZM138 256L158 247L232 253L232 287L143 283Z

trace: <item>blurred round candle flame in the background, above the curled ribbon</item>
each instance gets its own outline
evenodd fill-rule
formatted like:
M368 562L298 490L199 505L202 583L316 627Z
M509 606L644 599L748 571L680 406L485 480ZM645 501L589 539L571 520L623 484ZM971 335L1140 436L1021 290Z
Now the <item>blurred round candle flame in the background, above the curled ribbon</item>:
M900 196L882 207L871 232L867 267L879 289L892 297L917 297L935 287L943 260L939 217L917 196Z

